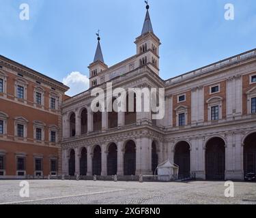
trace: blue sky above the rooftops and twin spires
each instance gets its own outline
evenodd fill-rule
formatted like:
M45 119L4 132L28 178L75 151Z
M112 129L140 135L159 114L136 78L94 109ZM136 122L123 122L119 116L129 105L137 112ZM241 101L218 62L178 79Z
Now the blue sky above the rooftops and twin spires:
M21 3L30 20L19 19ZM225 20L226 3L235 20ZM163 79L256 48L255 0L150 0L150 16ZM88 88L96 31L111 66L135 54L144 18L143 0L1 0L0 54L65 82L74 95Z

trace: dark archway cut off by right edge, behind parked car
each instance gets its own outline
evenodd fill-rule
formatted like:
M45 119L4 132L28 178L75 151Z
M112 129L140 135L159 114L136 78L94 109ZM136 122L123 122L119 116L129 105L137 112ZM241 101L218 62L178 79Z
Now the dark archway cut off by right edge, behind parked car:
M256 173L256 132L244 140L244 176Z

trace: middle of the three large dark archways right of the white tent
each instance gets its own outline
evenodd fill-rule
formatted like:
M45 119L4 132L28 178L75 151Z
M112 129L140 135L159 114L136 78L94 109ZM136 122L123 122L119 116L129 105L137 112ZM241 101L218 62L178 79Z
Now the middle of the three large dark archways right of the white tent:
M225 142L222 138L212 138L207 142L205 171L207 180L225 179Z

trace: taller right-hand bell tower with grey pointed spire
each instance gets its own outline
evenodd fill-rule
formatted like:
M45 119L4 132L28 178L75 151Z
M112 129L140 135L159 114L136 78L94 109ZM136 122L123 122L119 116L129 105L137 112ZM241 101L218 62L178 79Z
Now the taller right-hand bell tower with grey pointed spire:
M150 19L150 5L145 1L146 16L141 35L134 42L137 45L137 55L139 63L137 65L148 65L152 71L159 76L159 46L160 40L154 34L152 22Z

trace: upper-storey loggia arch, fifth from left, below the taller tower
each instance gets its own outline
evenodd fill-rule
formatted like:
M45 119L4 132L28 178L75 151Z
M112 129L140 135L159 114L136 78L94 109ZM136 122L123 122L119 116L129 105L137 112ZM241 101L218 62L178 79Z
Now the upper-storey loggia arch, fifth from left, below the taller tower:
M136 93L134 95L130 94L126 96L126 113L125 113L125 125L131 125L134 123L137 123L137 112L136 112ZM130 101L129 101L130 98ZM133 100L133 105L130 105L129 107L129 102L132 102ZM130 110L129 110L130 108Z

